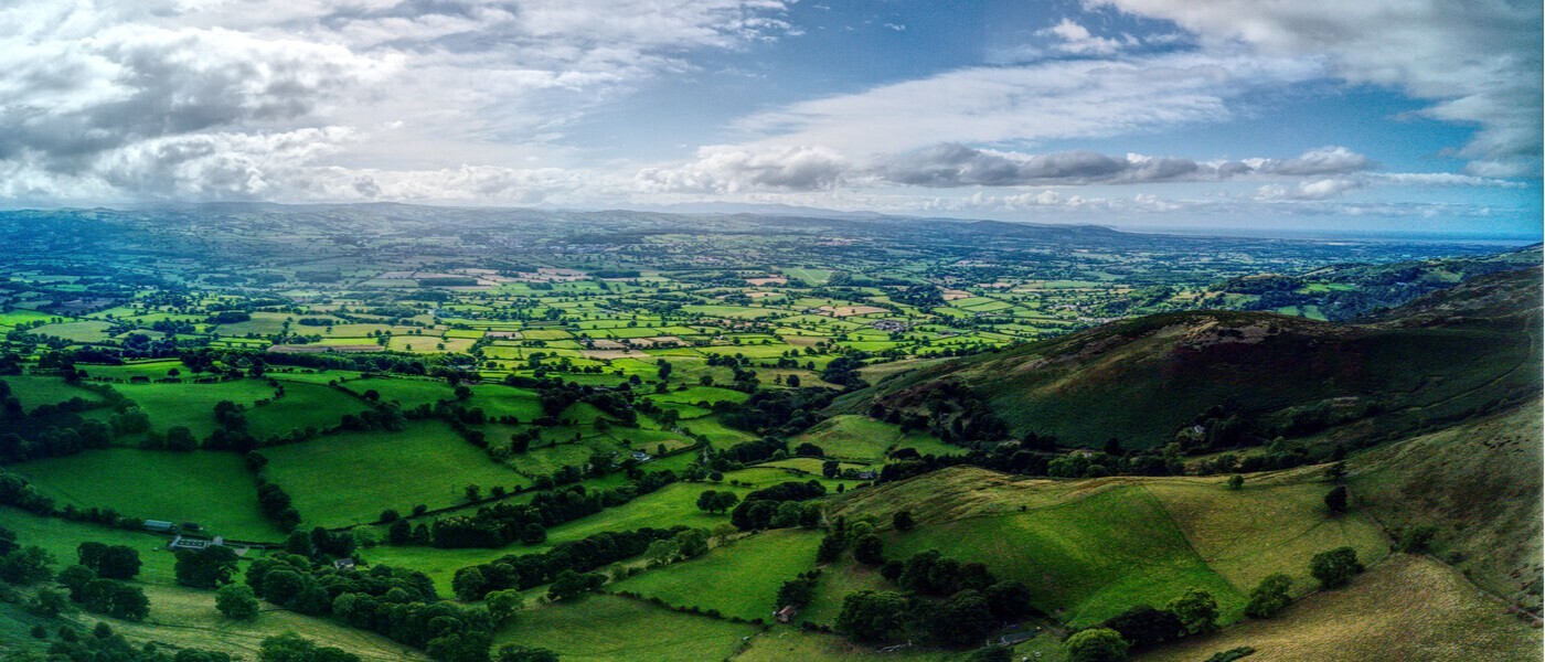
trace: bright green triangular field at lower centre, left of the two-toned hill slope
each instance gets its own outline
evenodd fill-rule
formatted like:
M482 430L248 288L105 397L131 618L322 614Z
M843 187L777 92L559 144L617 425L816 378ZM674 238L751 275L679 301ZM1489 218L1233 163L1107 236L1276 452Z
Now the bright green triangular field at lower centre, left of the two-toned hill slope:
M667 605L717 610L745 620L772 620L783 582L814 568L820 532L766 531L618 582L609 589L658 597Z

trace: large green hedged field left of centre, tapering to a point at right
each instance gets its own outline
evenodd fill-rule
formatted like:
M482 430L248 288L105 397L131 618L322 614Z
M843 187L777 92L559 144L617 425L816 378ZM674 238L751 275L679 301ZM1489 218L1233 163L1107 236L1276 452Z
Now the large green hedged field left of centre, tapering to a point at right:
M307 525L351 526L375 522L386 508L462 503L468 485L487 489L525 485L519 474L440 423L402 432L343 432L263 449L264 474L295 500Z

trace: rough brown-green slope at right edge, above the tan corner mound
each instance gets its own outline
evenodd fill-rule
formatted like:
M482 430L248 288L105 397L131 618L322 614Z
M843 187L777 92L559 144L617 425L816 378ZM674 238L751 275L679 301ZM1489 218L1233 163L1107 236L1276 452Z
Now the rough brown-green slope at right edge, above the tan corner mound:
M1352 460L1352 498L1390 529L1438 528L1434 551L1482 588L1540 608L1540 403Z

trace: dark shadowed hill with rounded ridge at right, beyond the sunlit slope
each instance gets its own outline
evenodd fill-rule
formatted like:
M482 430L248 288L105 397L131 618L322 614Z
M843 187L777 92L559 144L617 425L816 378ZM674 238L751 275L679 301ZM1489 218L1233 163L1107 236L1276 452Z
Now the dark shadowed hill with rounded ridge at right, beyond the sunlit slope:
M1370 326L1273 313L1154 315L898 375L840 398L833 412L857 414L873 400L913 407L919 389L955 380L975 387L1014 434L1049 432L1071 444L1119 437L1146 448L1225 401L1270 417L1360 398L1386 414L1355 435L1394 438L1539 392L1537 292L1537 270L1477 278Z

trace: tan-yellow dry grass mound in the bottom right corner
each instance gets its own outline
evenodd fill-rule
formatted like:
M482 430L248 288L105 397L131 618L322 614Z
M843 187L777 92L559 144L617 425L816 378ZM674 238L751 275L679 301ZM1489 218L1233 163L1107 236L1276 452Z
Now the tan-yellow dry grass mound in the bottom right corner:
M1253 660L1539 660L1540 633L1479 596L1455 569L1395 556L1352 585L1312 594L1270 620L1139 656L1194 662L1253 647Z

